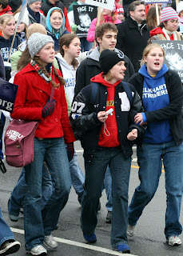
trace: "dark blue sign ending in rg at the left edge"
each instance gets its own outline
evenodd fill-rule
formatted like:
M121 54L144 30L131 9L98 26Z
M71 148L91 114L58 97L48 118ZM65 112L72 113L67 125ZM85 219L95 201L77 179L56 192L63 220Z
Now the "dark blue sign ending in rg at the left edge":
M0 78L0 109L12 112L18 86Z

